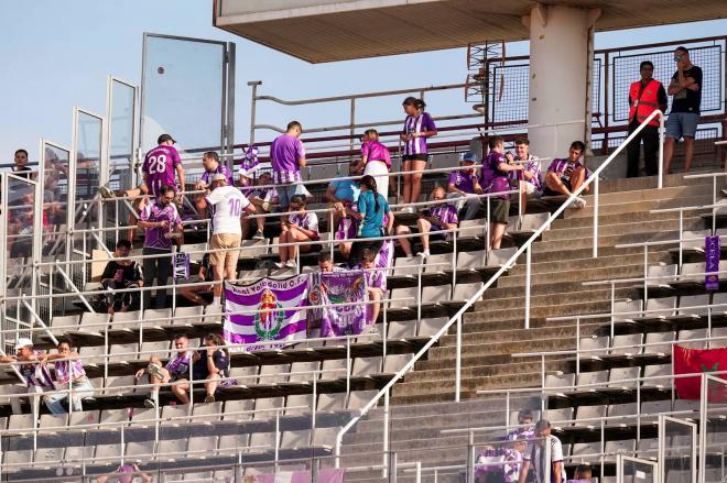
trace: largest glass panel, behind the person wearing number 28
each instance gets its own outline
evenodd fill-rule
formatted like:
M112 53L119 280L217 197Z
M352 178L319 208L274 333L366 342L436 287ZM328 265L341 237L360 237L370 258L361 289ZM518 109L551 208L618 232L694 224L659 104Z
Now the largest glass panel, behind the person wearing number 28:
M177 150L219 150L223 129L225 45L145 36L142 79L144 152L164 133Z

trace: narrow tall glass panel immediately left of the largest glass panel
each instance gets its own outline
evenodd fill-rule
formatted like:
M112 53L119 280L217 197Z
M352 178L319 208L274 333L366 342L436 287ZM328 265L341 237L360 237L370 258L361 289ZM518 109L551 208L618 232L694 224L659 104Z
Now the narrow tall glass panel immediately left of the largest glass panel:
M109 186L128 189L133 185L133 128L137 89L111 79L109 121Z

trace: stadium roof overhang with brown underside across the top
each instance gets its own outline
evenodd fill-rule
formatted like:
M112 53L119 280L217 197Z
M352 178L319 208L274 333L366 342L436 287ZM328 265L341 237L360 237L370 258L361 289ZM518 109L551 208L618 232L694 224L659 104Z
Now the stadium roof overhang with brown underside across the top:
M727 0L551 0L600 9L599 32L727 17ZM529 39L532 0L215 0L214 23L312 63Z

